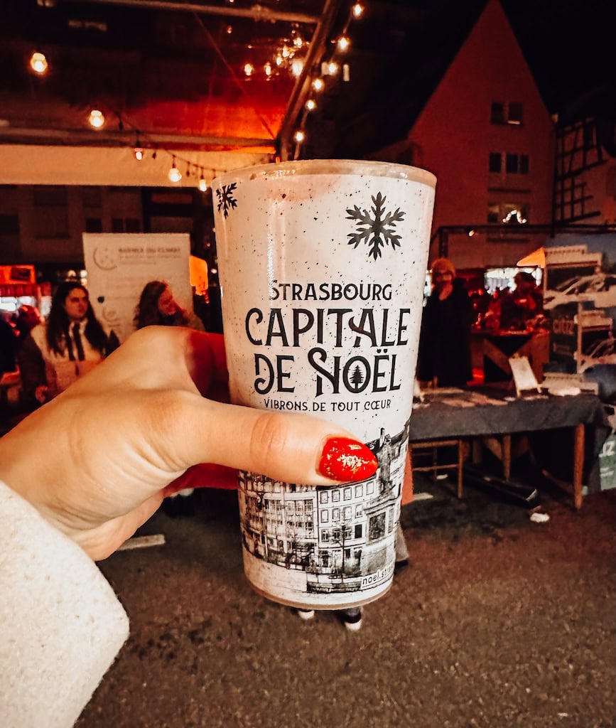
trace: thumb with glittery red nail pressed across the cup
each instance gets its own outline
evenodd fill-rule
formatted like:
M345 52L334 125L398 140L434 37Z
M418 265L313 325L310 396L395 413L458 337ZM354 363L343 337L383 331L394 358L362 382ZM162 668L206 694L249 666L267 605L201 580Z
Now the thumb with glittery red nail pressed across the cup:
M186 394L173 427L155 427L173 467L211 462L273 480L311 485L365 480L377 470L372 451L351 433L308 415L257 410ZM178 427L178 423L180 426Z

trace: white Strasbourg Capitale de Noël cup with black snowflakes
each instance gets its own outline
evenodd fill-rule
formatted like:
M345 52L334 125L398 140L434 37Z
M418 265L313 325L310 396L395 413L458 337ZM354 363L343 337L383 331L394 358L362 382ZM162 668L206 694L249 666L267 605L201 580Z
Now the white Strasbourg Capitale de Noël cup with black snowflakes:
M244 570L274 601L338 609L391 585L435 184L344 160L212 183L231 400L339 423L379 462L327 488L239 472Z

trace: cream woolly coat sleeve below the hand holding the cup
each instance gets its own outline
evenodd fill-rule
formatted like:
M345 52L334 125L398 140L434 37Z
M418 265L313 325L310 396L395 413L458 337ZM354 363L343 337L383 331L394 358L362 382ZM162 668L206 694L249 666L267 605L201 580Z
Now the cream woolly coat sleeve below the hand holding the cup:
M2 726L71 727L127 636L95 563L0 482Z

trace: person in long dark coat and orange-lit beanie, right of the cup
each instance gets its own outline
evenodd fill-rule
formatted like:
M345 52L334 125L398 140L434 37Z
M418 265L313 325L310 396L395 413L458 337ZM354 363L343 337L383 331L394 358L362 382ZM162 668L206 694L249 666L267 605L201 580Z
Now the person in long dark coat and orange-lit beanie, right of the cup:
M417 379L433 387L463 387L473 376L473 306L449 258L433 262L432 282L421 320Z

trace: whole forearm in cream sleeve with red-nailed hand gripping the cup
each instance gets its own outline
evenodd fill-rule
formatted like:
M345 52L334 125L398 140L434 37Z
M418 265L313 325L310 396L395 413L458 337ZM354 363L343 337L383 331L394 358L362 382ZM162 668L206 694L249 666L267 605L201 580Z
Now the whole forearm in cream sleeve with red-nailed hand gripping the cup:
M317 486L375 472L372 453L336 424L217 401L221 338L138 331L0 438L3 726L76 721L128 636L92 560L145 523L186 468L209 462Z

